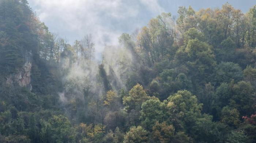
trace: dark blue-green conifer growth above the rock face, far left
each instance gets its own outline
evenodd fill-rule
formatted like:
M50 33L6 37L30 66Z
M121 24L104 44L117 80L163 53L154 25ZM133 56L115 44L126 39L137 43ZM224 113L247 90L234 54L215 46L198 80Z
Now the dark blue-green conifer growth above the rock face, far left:
M0 4L0 67L2 74L13 74L22 67L23 53L37 45L33 28L29 27L33 13L26 0L2 0Z

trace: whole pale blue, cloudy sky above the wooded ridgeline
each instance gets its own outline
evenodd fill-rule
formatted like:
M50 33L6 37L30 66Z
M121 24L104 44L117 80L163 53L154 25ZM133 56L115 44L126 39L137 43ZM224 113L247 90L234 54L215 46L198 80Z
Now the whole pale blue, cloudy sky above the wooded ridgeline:
M148 21L170 12L177 15L179 6L221 8L226 2L247 12L256 0L28 0L30 7L49 30L67 38L72 45L91 33L96 55L104 45L118 44L122 33L132 33Z

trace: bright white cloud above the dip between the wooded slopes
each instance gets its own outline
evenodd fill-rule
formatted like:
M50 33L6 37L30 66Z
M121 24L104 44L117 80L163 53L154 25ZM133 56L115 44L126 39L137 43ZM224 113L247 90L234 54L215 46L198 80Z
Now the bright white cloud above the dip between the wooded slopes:
M157 0L29 0L29 3L50 31L67 37L71 44L91 33L97 53L105 43L117 44L121 33L145 25L142 12L151 13L146 17L148 20L163 11Z

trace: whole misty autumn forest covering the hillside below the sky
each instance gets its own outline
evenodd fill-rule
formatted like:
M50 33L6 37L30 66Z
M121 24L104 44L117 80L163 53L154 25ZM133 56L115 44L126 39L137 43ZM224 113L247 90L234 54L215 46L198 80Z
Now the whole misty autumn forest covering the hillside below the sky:
M256 5L161 13L100 61L61 37L0 0L0 143L256 142Z

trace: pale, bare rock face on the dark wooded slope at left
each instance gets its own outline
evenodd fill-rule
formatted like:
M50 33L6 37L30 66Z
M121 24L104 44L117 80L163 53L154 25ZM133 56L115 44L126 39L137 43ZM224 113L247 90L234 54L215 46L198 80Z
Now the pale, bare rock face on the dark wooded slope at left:
M26 51L25 63L23 67L15 74L11 74L7 77L7 84L18 84L22 87L27 87L30 91L32 90L31 82L31 67L32 67L32 52Z

